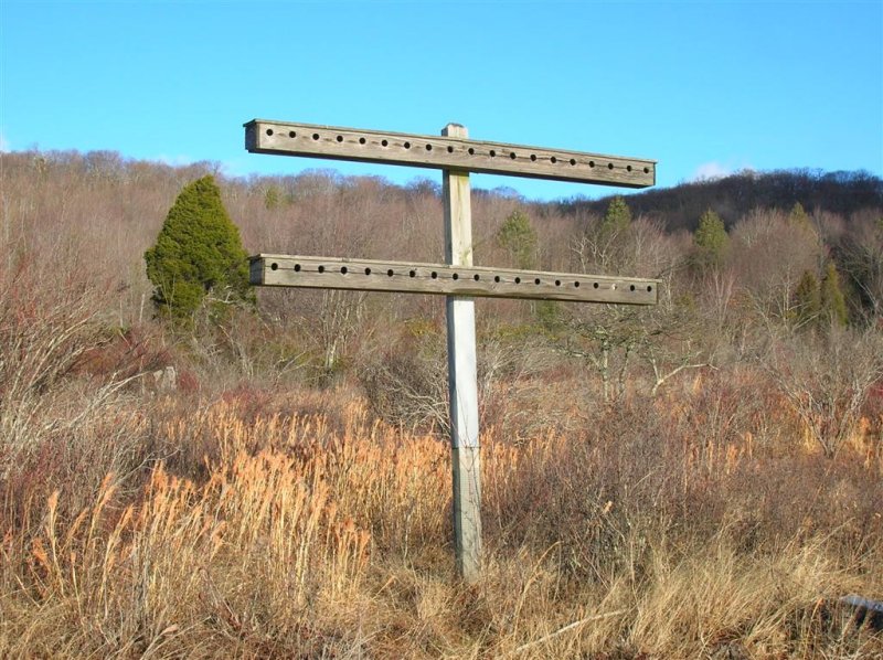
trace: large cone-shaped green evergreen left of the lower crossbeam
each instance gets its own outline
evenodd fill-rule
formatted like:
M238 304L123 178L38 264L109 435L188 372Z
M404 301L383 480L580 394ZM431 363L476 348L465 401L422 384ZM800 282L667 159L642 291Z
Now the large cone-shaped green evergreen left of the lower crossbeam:
M191 321L210 294L213 316L228 302L254 302L248 255L212 175L184 187L145 262L153 302L175 320Z

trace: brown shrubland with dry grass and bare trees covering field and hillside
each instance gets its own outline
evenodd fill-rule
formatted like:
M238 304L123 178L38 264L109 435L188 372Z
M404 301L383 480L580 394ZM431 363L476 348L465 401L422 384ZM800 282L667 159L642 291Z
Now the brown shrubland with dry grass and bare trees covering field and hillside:
M2 158L0 656L883 657L839 605L883 598L879 330L789 326L780 262L813 246L745 238L786 232L777 212L702 277L641 221L637 267L671 291L643 315L479 301L485 571L466 585L444 306L265 291L259 316L181 334L150 319L140 259L211 164ZM426 184L224 193L253 252L440 259ZM476 195L482 263L519 204ZM597 219L532 212L541 258L578 268L561 246ZM611 327L631 343L609 347L605 397L582 353Z

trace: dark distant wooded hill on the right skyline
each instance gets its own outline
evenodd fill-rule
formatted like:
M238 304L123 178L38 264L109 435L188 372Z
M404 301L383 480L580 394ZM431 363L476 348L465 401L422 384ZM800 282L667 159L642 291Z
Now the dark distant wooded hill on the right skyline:
M576 210L603 213L610 201L574 198L558 202L562 213ZM636 215L658 219L670 230L695 230L700 215L712 209L727 225L749 211L790 210L800 202L808 212L827 211L849 216L863 209L883 209L883 179L866 171L821 170L743 171L723 179L682 183L629 195Z

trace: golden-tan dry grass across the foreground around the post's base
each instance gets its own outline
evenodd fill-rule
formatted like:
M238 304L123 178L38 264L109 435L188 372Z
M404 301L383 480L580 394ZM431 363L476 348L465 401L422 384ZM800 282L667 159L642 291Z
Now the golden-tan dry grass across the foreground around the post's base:
M695 529L670 513L710 473L735 489L734 456L764 469L744 449L701 461L687 453L673 490L659 482L655 496L684 499L656 518L641 514L646 493L627 502L603 492L603 461L573 439L488 438L487 567L469 587L449 556L444 443L370 423L355 404L337 428L322 416L246 421L240 408L187 414L160 402L152 430L129 423L145 443L205 450L199 477L172 473L170 456L142 470L138 489L107 475L78 510L54 491L4 523L3 656L883 653L879 637L830 607L883 589L873 515L784 537L755 520L760 537L746 549L735 504ZM584 501L567 508L554 491L573 496L575 476ZM543 520L529 533L532 517ZM844 552L859 522L875 545Z

